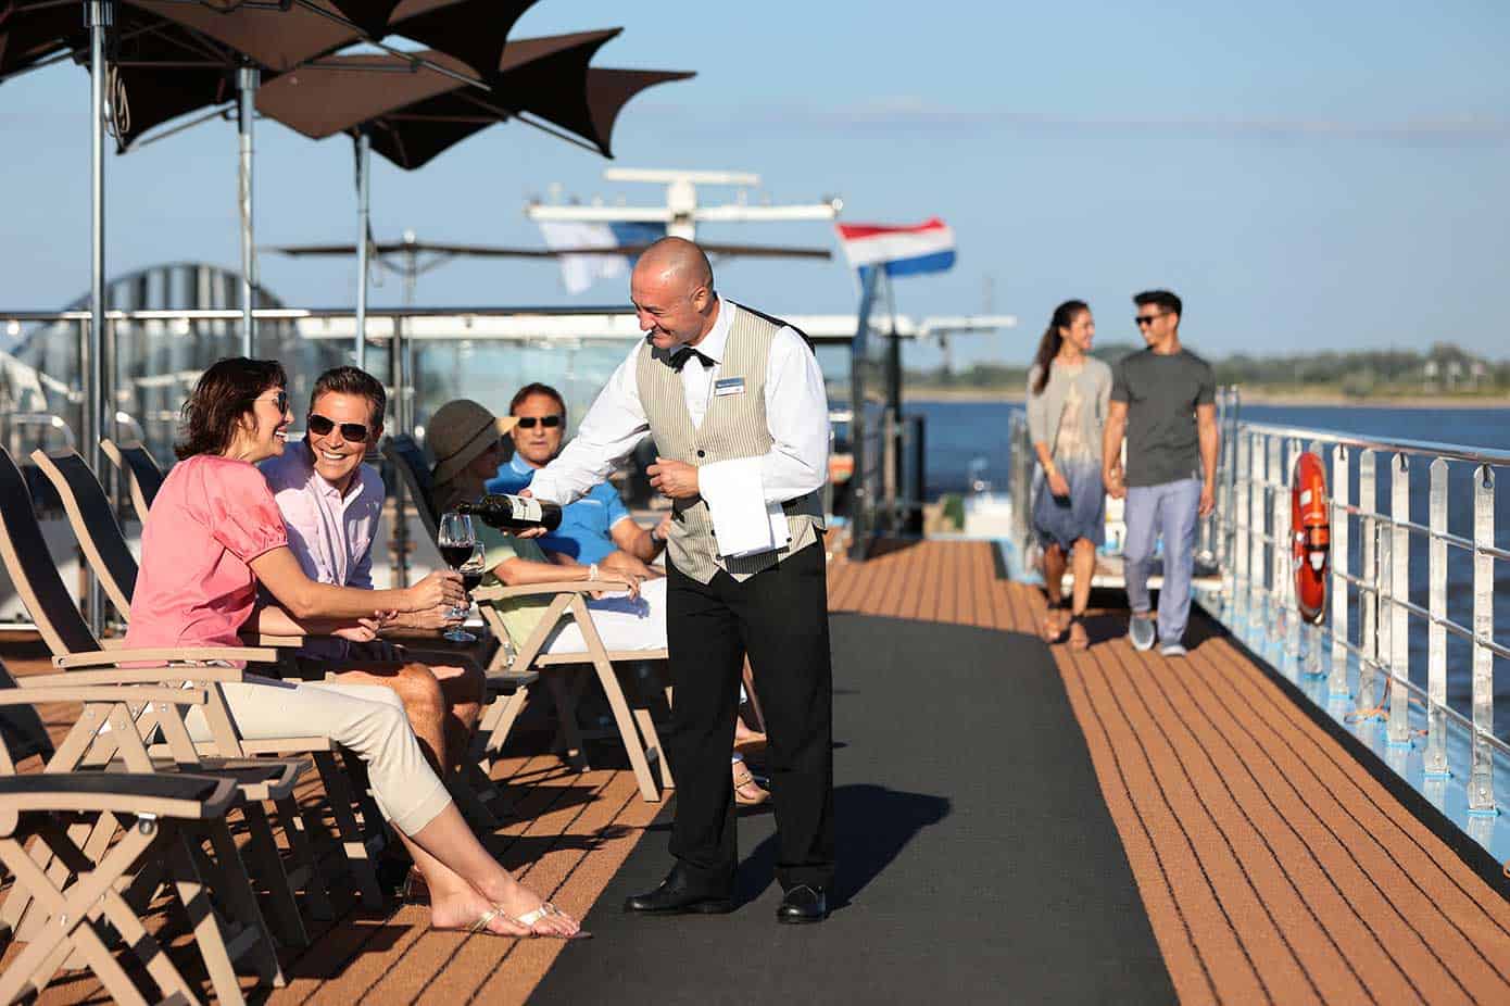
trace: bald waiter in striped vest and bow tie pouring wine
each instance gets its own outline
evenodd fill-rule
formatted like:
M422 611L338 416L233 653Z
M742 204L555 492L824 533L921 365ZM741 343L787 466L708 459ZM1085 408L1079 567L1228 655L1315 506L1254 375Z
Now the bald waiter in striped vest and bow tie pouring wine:
M834 878L823 373L800 332L720 298L708 257L692 242L667 237L646 249L630 296L645 341L609 379L577 438L530 485L539 498L569 503L652 437L660 456L651 485L672 500L666 636L675 693L664 743L676 778L675 864L625 911L734 909L729 749L749 654L779 832L776 920L821 921ZM750 521L735 532L722 508L743 503L747 517L755 492L764 506L757 501L753 524L760 530L769 521L770 544L720 554L720 538L749 545L750 533Z

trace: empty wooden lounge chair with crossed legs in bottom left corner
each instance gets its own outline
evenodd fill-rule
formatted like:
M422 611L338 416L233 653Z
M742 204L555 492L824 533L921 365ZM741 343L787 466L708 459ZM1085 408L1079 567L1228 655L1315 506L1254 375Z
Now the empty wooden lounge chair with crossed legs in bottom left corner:
M133 704L149 702L165 722L183 727L181 711L205 707L210 692L83 684L66 675L26 683L0 690L0 708L35 714L32 707L42 702L82 702L80 722L89 724L92 736L110 728L127 752L127 770L68 772L54 758L44 772L17 775L18 752L0 745L0 863L14 876L11 900L29 902L36 920L29 932L12 930L26 947L0 974L0 1001L38 994L59 968L82 965L115 1001L145 1003L107 946L118 937L140 959L163 1000L198 1003L196 989L142 924L142 914L163 890L184 909L220 1001L245 1001L237 961L248 961L263 982L284 985L225 820L242 802L236 779L157 772L133 728ZM76 730L71 739L82 736Z

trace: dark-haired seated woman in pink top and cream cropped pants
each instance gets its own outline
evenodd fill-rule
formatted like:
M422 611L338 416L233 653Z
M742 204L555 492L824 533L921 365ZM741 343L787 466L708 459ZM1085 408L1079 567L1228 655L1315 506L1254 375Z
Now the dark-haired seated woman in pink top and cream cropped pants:
M128 646L236 646L246 627L370 639L391 612L465 597L450 571L397 591L331 586L304 574L255 468L282 453L293 418L285 385L278 363L246 358L222 360L199 378L184 405L180 462L142 529ZM258 585L276 604L258 603ZM433 929L583 935L577 920L518 884L482 847L424 760L393 690L248 677L223 692L246 739L307 734L319 724L367 763L378 804L424 875Z

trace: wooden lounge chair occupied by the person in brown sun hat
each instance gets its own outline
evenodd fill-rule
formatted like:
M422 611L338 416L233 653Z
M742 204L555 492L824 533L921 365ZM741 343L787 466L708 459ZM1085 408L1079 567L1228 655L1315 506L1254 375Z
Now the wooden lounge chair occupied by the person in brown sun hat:
M420 446L414 443L409 437L391 437L384 444L384 455L397 468L405 486L409 489L409 495L415 501L415 509L420 512L420 520L424 523L426 532L430 535L430 541L435 541L438 517L432 503L432 483L429 477L429 470L424 464L424 455ZM615 671L615 663L628 662L645 662L645 660L664 660L664 650L636 650L636 651L609 651L602 645L602 637L598 636L598 630L592 624L592 615L584 601L584 595L592 591L601 591L606 586L613 588L618 582L610 577L596 580L592 585L586 583L541 583L518 588L504 586L485 586L473 591L473 598L479 601L479 609L482 610L483 621L488 624L489 631L500 640L509 639L509 631L503 624L503 618L492 609L488 601L518 598L518 597L548 597L551 598L550 607L545 616L541 619L541 625L527 640L510 640L516 646L513 657L515 668L538 668L541 671L551 671L566 666L590 666L598 677L598 684L602 687L602 693L609 699L609 707L613 710L615 727L621 740L624 742L624 751L630 758L630 767L634 770L634 778L640 787L640 796L646 801L655 802L660 799L660 790L655 784L655 776L651 773L649 763L657 761L660 764L660 784L664 787L672 785L670 767L663 757L663 748L660 745L660 736L655 731L655 722L651 717L649 708L640 701L636 702L631 710L630 701L624 693L624 687L619 683L619 675ZM628 586L627 583L619 583L619 586ZM587 645L586 653L580 654L559 654L550 656L542 654L541 650L545 640L550 637L551 630L556 628L557 622L563 618L575 618L578 627L581 628L583 640ZM498 657L504 657L504 648L500 646ZM575 701L569 684L562 680L560 675L547 674L547 686L551 689L551 696L556 699L556 707L560 714L562 731L566 737L568 754L581 758L586 751L583 745L583 734L577 725ZM477 745L476 757L482 763L491 763L492 758L498 757L503 749L503 743L513 727L513 721L518 717L522 708L524 696L521 695L518 701L510 701L507 704L494 704L488 708L483 716L482 727L477 730ZM584 758L583 758L584 763Z

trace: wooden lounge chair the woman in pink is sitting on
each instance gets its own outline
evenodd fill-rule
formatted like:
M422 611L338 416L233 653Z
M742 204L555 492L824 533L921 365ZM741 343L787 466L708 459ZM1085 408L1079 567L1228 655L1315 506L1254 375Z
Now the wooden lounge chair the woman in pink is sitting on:
M92 474L89 476L89 480L103 501L104 494L98 489L98 482L94 480ZM91 672L92 680L98 683L113 683L124 680L122 675L137 675L134 680L149 681L154 675L157 680L184 680L186 677L199 675L202 672L201 669L183 669L186 662L245 660L252 665L278 662L279 656L276 651L263 648L184 648L154 651L101 648L98 640L89 631L89 625L80 616L79 609L74 607L68 588L59 577L51 554L47 551L47 544L42 541L41 527L36 523L36 517L32 514L29 497L24 494L26 482L20 468L17 468L9 453L0 449L0 559L3 559L6 571L11 576L11 582L15 585L17 594L21 597L21 603L26 604L27 612L32 615L42 640L47 643L48 650L51 650L53 663L60 669L80 672L92 668L119 668L122 663L133 662L151 662L159 665L157 669L149 672L118 669ZM107 508L107 505L104 506ZM68 508L65 506L65 509ZM77 508L77 500L74 500L74 509L69 512L71 520L76 517L83 520L83 514ZM95 524L103 527L106 520L112 527L115 527L113 517L110 517L109 512L106 512L104 518L97 517ZM119 535L118 527L116 535ZM119 551L130 559L130 551L125 550L124 542L121 544ZM97 551L89 557L98 562L100 553ZM100 562L100 565L104 563ZM131 565L134 569L134 562ZM124 582L125 577L122 576L121 579ZM134 574L131 576L131 586L134 586ZM121 600L127 607L130 606L130 595L125 595ZM180 669L163 665L178 665ZM145 677L140 677L143 674ZM234 671L234 675L237 677L222 680L240 680L240 671ZM85 681L80 680L80 683ZM347 770L343 770L335 760L337 754L341 751L328 737L311 736L287 739L279 737L272 740L243 740L234 730L219 689L214 689L214 693L216 702L211 708L213 716L208 717L211 725L216 727L214 737L208 743L198 745L196 751L207 760L219 760L214 763L219 767L223 767L225 770L237 770L243 775L242 781L245 782L246 822L258 846L254 850L255 861L264 873L264 878L270 878L269 887L273 891L273 912L279 920L279 932L284 935L285 941L299 944L307 940L304 926L299 920L299 912L293 903L293 888L304 887L313 915L322 917L329 912L323 882L319 878L314 855L305 838L307 831L314 828L314 822L308 822L300 817L293 798L299 773L305 766L302 755L311 755L314 758L316 767L319 769L322 781L326 785L331 811L337 823L337 841L347 858L347 866L356 881L358 890L362 894L362 902L373 908L381 906L382 891L378 885L371 855L382 846L385 832L382 831L381 814L371 802L371 798L365 796L364 792L353 788L347 776L349 770L356 770L359 773L358 778L365 778L359 760L349 757L346 760ZM142 713L143 721L151 717L151 710L145 710ZM171 751L163 748L154 749L154 754L175 757ZM246 761L248 758L266 755L282 755L284 758L281 761L272 761L270 764L299 766L299 772L267 775L267 769L258 769L255 763ZM287 761L287 755L294 755L293 761ZM80 764L85 754L74 752L74 757L77 760L69 763L66 767ZM97 754L95 757L103 755ZM279 823L288 838L290 849L297 858L294 869L288 872L285 878L278 876L278 873L282 872L282 866L275 852L276 843L272 841L270 825L261 807L261 801L273 804ZM367 834L364 834L361 823L358 822L358 813L353 810L358 807L362 808L359 814L361 820L368 825ZM9 905L3 912L0 912L0 915L9 917L12 921L15 918L15 912L9 908Z

